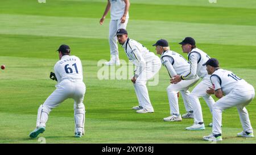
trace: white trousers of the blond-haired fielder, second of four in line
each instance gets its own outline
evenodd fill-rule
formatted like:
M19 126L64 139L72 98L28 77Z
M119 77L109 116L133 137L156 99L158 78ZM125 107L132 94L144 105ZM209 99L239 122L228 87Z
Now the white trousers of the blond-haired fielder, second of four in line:
M193 108L191 106L191 102L189 100L189 94L188 91L189 87L192 87L196 84L196 82L199 81L199 77L191 80L183 80L176 84L171 84L167 87L167 95L170 105L170 114L180 114L179 111L179 104L178 104L178 98L177 93L180 91L180 94L182 95L185 110L186 111L192 111Z

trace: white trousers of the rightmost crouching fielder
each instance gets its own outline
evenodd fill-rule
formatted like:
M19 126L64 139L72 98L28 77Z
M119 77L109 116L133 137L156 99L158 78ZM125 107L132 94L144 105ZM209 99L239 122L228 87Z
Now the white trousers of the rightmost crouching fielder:
M214 135L221 133L221 122L222 122L222 111L234 107L237 107L238 114L244 132L253 132L251 127L249 114L245 108L255 95L254 87L249 85L242 88L234 88L228 95L217 100L213 104L212 115L213 115L213 128L212 133Z

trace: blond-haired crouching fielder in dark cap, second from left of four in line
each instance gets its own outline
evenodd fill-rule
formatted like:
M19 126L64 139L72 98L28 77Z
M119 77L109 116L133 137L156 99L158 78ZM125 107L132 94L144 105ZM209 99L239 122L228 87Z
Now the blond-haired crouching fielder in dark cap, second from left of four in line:
M156 43L153 46L156 46L156 53L158 55L161 55L160 60L168 70L170 78L172 78L174 75L180 75L189 71L188 61L178 53L170 51L170 47L168 45L167 40L160 39L156 41ZM197 81L199 81L199 77L195 76L195 78L193 79L181 81L177 84L171 84L167 87L167 95L169 99L171 116L164 118L164 121L175 122L181 121L182 118L193 118L193 109L188 98L188 95L190 94L188 89L189 87L195 85ZM182 95L184 106L187 111L187 114L182 115L182 118L179 112L179 104L177 97L177 93L179 91Z

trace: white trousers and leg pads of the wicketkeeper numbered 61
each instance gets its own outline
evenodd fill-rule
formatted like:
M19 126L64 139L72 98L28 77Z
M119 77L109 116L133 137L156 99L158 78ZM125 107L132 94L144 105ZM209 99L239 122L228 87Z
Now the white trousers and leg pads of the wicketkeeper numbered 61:
M68 79L64 79L57 85L57 89L53 91L46 101L38 109L38 119L36 121L36 127L46 127L48 115L51 110L60 105L65 99L72 98L74 100L75 122L77 128L83 129L85 119L85 106L83 100L85 95L84 82L71 82ZM64 122L63 122L64 123Z

